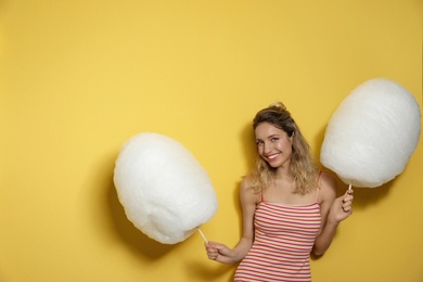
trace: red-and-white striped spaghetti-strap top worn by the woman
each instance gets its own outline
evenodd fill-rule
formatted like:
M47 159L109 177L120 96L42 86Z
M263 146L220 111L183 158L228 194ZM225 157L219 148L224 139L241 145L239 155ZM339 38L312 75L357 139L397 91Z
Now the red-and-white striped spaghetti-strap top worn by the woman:
M234 281L311 281L310 252L320 223L319 203L261 202L255 214L254 244Z

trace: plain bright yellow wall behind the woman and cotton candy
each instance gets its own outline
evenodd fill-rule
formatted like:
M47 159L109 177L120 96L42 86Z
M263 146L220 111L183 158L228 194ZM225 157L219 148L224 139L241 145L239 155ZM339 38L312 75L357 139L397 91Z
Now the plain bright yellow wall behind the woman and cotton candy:
M120 145L154 131L190 150L219 200L203 231L233 246L254 114L284 102L318 158L361 82L422 105L422 15L421 0L0 1L0 281L230 281L200 234L162 245L127 220ZM423 281L422 166L421 140L398 178L356 189L313 281Z

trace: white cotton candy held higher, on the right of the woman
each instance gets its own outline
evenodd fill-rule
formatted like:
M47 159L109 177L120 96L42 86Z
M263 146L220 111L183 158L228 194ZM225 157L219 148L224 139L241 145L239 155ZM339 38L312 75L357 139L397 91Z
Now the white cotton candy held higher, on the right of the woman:
M407 89L389 79L368 80L333 113L320 162L347 184L380 187L403 171L419 143L420 119Z

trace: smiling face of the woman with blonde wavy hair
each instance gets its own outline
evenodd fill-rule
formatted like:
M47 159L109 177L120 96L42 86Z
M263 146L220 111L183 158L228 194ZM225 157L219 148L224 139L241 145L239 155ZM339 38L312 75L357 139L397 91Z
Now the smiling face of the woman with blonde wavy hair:
M271 167L289 167L292 154L292 141L285 131L269 123L261 123L256 127L256 143L258 154Z

